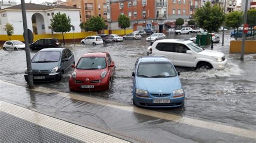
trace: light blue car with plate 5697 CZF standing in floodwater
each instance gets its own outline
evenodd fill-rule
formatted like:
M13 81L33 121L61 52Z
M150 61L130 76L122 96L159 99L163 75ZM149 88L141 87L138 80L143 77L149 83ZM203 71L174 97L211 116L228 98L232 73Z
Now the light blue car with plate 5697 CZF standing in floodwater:
M150 108L183 106L185 92L179 72L164 56L140 57L134 66L133 104Z

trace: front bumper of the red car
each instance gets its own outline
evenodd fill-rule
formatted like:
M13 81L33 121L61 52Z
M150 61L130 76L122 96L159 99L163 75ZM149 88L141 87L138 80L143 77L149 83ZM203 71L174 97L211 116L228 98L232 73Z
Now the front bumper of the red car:
M82 85L94 85L94 88L81 88ZM76 83L75 80L70 77L69 78L69 89L71 91L105 91L109 89L109 80L107 78L103 79L98 83Z

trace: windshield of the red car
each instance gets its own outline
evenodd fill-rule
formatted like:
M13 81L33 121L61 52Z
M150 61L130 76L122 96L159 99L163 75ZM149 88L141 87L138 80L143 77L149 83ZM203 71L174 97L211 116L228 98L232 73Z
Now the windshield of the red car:
M77 69L104 69L106 60L104 57L84 57L77 63Z

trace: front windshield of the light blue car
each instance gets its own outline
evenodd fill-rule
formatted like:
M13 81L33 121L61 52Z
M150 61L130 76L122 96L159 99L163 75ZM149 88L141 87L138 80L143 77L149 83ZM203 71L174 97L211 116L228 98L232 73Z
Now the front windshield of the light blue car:
M176 70L170 62L142 62L137 70L138 77L174 77Z

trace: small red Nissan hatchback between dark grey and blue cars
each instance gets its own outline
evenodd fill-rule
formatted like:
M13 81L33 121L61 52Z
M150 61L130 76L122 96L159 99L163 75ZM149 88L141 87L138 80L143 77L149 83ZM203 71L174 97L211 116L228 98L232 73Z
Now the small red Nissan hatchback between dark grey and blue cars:
M84 54L69 78L71 91L103 91L111 86L116 67L107 52Z

